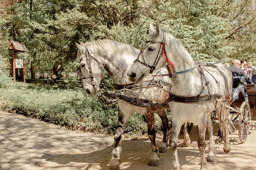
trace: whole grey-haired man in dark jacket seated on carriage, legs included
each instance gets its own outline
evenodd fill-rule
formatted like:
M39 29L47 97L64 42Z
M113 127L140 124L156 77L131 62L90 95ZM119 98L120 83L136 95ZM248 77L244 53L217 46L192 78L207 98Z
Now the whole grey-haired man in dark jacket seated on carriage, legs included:
M248 96L247 92L244 88L244 86L241 86L240 84L251 84L252 80L244 73L244 71L241 69L241 62L239 60L234 60L229 67L230 71L233 75L233 97L234 100L238 99L239 93L242 92L244 96L244 100L248 102Z

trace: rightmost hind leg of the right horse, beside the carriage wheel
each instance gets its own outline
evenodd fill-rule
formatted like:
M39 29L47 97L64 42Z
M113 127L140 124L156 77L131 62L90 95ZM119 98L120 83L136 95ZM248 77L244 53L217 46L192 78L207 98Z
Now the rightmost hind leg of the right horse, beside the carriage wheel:
M225 107L225 112L226 112L226 116L224 117L224 121L222 122L223 123L223 127L224 127L224 147L223 147L223 150L225 153L228 153L230 152L231 150L231 147L230 147L230 144L229 144L229 139L228 139L228 126L229 126L229 123L232 123L230 122L228 116L229 116L229 108Z

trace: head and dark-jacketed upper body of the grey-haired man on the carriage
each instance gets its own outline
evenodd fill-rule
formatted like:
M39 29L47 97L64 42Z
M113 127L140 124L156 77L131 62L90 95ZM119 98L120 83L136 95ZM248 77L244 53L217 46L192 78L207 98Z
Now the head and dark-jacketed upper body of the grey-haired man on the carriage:
M229 69L232 72L233 76L242 76L245 78L247 84L252 83L252 80L241 69L241 61L234 60Z

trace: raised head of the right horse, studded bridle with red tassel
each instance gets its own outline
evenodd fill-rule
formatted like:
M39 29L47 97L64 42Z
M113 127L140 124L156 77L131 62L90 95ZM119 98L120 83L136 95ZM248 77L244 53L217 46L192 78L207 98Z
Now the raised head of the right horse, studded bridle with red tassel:
M142 49L127 75L132 82L138 82L148 73L166 65L163 57L166 36L156 23L156 29L150 23L148 39L142 44ZM166 57L166 56L165 56Z

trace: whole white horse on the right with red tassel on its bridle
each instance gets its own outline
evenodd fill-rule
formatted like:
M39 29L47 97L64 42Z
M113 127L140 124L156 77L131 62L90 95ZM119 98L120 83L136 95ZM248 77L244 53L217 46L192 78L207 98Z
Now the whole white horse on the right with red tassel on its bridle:
M141 80L145 74L166 66L172 81L169 103L172 110L172 134L170 148L172 168L180 170L177 153L177 138L184 122L198 125L198 148L201 155L200 170L206 169L205 132L212 127L210 114L216 110L222 130L225 132L224 152L230 152L228 107L232 102L232 73L221 63L197 64L184 46L174 36L162 31L156 23L156 30L150 23L148 39L134 64L127 72L132 82ZM176 74L176 75L175 75ZM213 142L210 135L210 143ZM214 148L213 148L214 150ZM208 158L214 153L209 150ZM208 160L207 158L207 160Z

